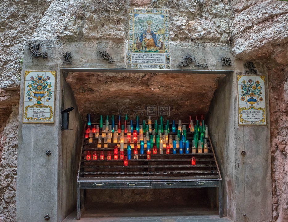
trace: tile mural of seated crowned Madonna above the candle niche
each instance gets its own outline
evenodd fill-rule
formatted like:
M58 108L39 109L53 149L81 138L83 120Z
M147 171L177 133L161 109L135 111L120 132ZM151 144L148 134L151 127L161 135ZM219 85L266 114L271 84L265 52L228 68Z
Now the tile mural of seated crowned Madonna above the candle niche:
M169 10L129 9L126 68L170 69Z

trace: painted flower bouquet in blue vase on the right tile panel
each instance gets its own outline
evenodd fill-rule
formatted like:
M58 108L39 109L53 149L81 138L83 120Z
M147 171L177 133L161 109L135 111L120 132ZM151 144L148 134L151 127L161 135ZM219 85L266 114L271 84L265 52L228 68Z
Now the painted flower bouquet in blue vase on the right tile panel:
M246 104L249 103L253 106L257 102L257 105L259 105L259 101L263 101L263 98L261 97L262 86L260 85L259 80L255 82L252 79L249 79L247 82L243 80L241 90L241 101L245 100ZM247 99L247 97L250 98ZM256 99L254 97L256 97Z

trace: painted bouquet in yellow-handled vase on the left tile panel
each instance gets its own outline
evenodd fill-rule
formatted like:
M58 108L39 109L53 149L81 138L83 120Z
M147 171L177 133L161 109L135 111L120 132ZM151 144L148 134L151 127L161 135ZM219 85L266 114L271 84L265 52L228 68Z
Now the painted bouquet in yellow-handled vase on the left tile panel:
M47 97L46 101L48 102L52 97L52 92L51 92L52 85L51 85L51 82L50 83L48 82L50 80L50 77L49 76L43 77L43 76L37 75L37 76L31 76L30 80L31 82L28 82L28 85L27 85L28 100L32 101L31 97L36 98L37 103L35 103L35 105L38 105L38 106L43 105L41 103L41 100L44 97Z

